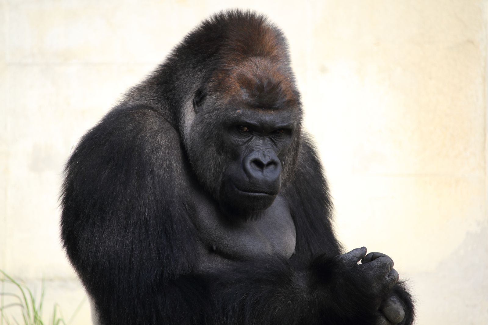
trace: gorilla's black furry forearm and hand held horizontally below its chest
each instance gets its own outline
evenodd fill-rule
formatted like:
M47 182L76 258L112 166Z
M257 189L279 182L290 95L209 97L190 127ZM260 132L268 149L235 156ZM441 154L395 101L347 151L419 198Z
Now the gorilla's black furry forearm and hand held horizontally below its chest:
M386 261L361 269L356 263L365 252L320 256L305 265L266 260L226 270L210 282L221 313L209 314L224 311L224 324L376 325L379 297L396 279Z

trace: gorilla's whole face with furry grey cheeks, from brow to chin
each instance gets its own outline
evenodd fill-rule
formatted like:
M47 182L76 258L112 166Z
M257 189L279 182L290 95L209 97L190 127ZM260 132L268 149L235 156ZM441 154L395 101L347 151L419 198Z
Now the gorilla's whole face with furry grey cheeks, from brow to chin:
M225 212L248 217L280 193L300 112L205 99L186 134L190 163Z

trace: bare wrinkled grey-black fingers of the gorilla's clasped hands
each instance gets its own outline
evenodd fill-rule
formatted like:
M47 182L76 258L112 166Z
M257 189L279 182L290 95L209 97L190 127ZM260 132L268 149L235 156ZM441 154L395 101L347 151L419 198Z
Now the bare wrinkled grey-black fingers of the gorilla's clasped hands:
M393 260L383 253L371 252L366 255L366 252L366 247L356 248L339 255L338 259L345 264L357 264L361 261L357 270L371 286L372 297L378 297L375 302L380 314L377 324L402 325L405 318L404 306L392 291L400 278L393 268Z

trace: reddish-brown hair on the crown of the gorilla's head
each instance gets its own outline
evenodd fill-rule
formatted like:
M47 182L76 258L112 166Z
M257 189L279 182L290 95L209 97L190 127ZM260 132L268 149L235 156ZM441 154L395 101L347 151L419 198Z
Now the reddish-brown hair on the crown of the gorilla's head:
M211 75L211 88L251 107L299 107L282 32L252 12L221 13L208 23L219 20L225 21L225 35L219 51L221 64Z

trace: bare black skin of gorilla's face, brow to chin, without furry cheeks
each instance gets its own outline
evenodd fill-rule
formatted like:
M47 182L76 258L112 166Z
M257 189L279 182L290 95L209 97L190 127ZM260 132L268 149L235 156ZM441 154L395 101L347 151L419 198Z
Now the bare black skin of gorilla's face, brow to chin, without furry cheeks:
M227 209L264 210L280 192L282 159L295 127L284 113L241 108L222 125L229 161L223 170L219 201Z

